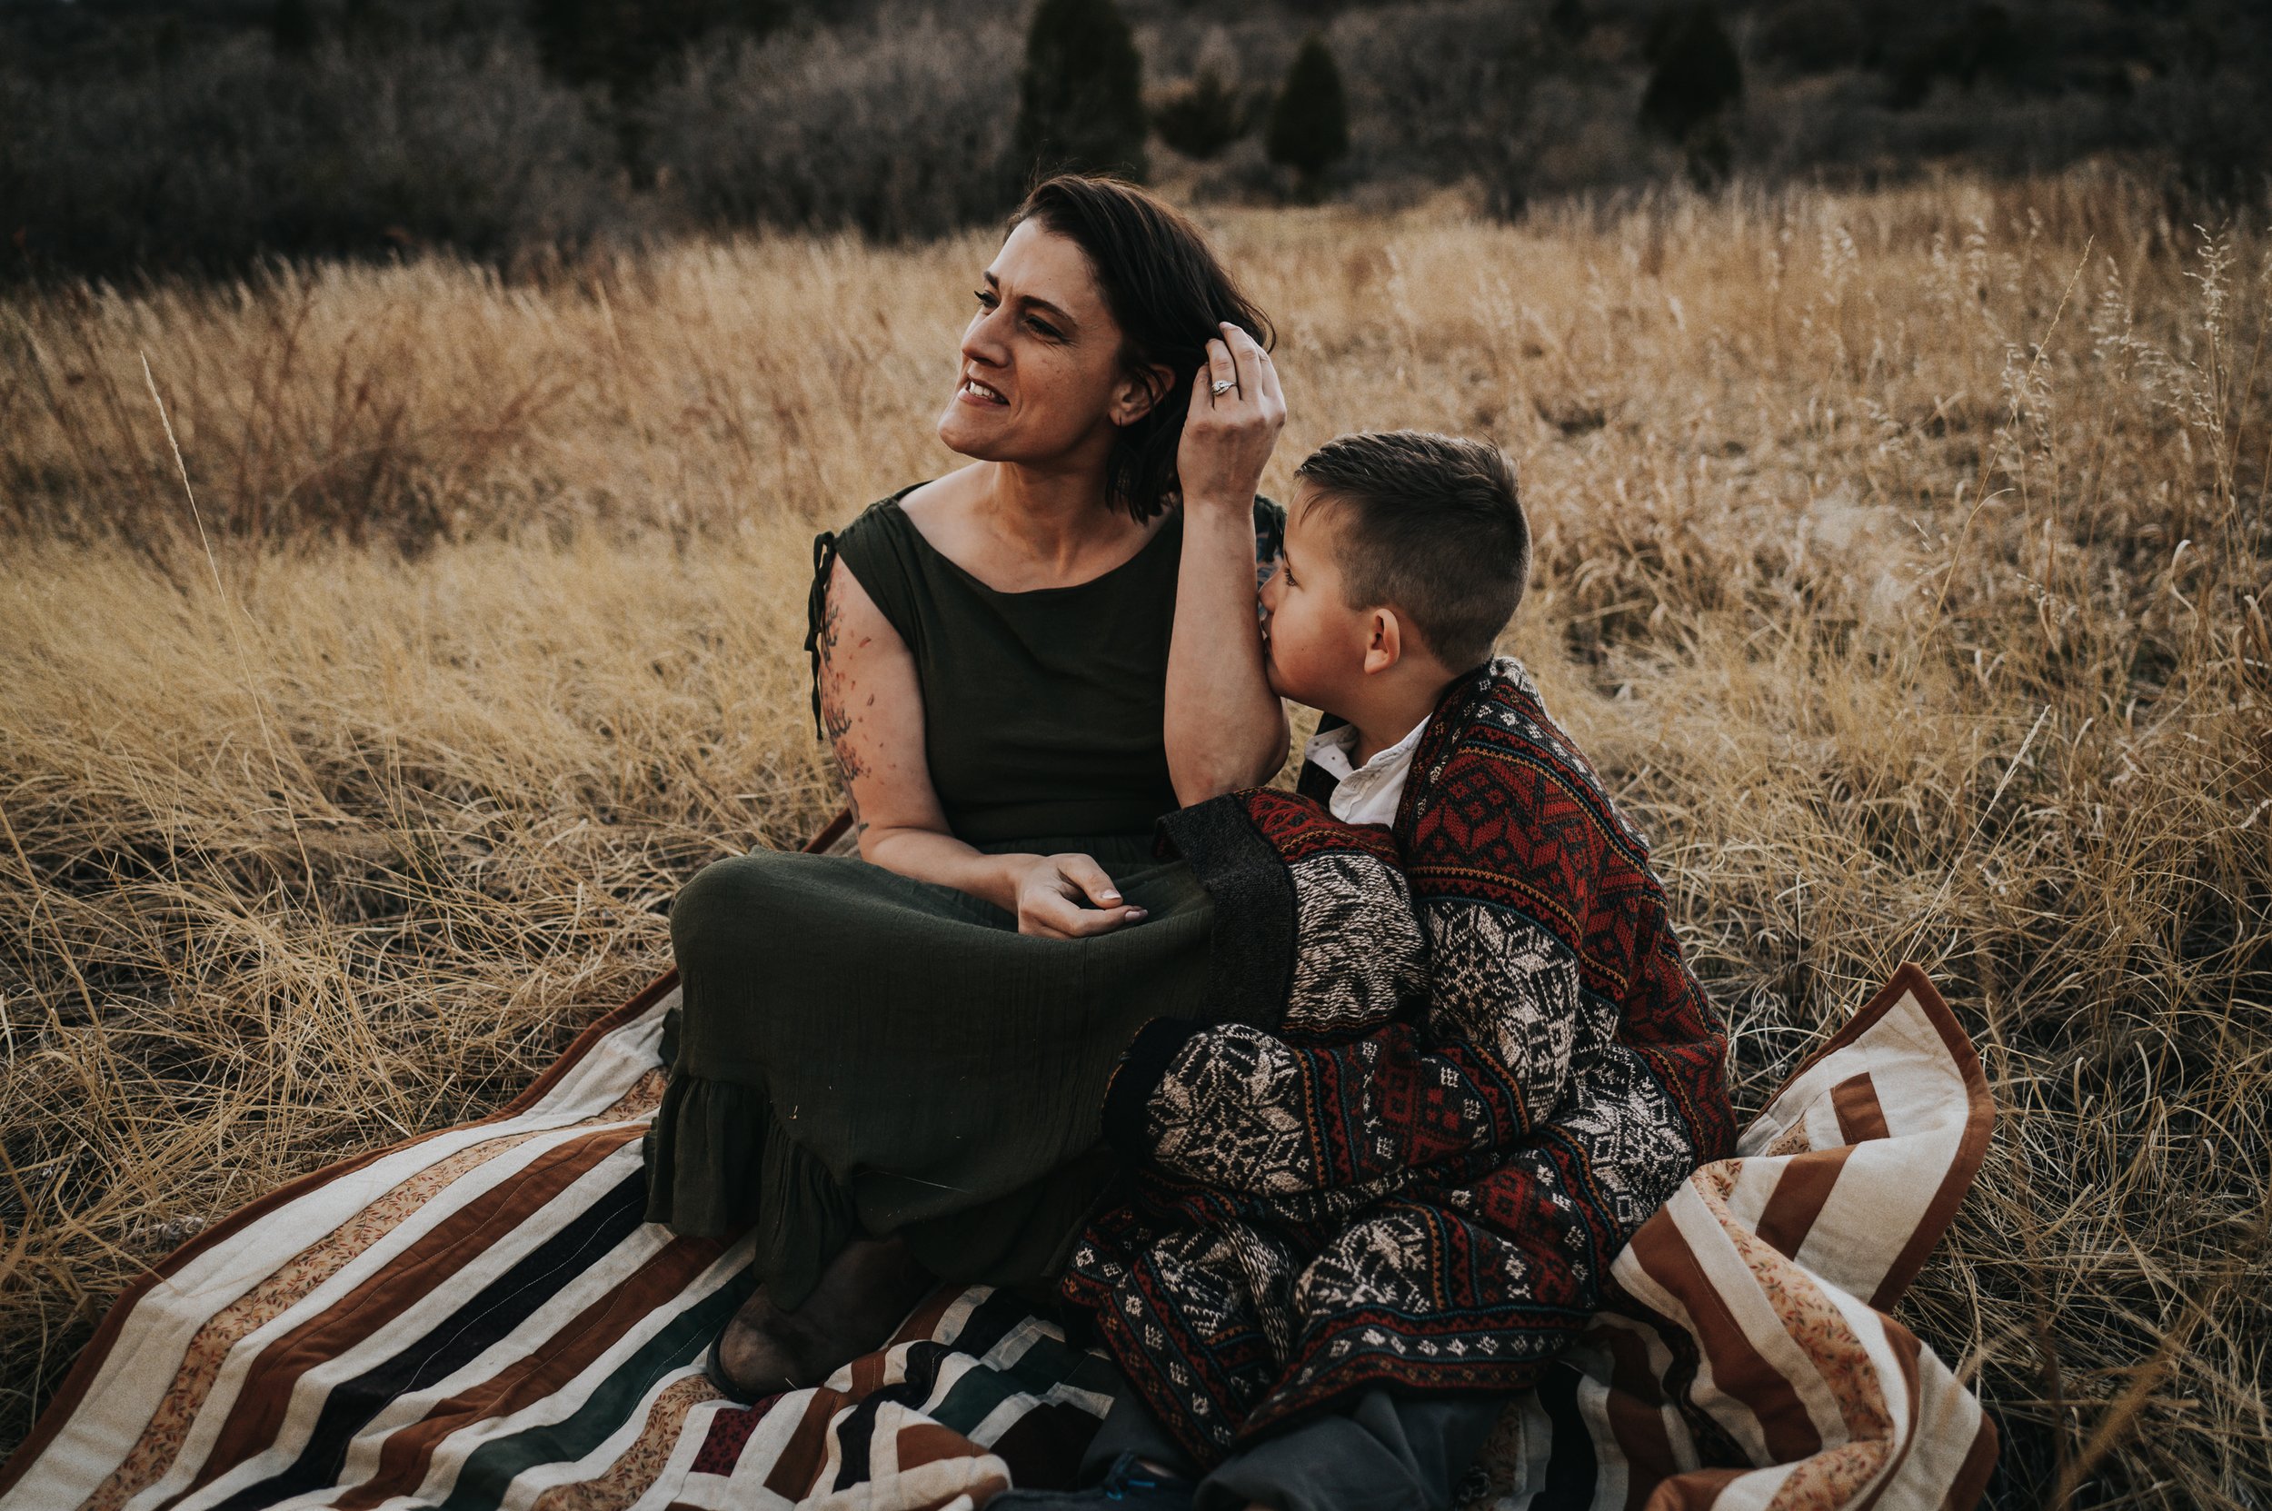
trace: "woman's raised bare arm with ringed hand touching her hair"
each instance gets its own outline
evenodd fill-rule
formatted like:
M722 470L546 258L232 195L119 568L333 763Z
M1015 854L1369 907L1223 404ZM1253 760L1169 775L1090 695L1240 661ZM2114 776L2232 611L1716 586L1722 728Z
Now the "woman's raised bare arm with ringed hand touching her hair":
M1286 761L1286 704L1263 670L1254 489L1286 423L1270 354L1236 325L1206 345L1177 450L1184 559L1168 641L1168 775L1184 807L1268 782ZM1236 386L1216 395L1211 384Z

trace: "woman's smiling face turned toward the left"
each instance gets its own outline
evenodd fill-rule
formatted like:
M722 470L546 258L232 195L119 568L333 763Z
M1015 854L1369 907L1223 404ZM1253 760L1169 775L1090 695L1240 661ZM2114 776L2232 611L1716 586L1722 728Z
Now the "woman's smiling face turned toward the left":
M1095 448L1152 407L1120 361L1120 325L1088 254L1025 220L977 289L938 439L982 461L1043 464Z

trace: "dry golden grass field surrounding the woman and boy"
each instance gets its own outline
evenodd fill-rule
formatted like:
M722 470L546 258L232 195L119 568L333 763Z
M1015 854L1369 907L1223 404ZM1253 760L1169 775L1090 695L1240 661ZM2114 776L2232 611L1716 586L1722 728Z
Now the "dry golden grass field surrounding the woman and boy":
M1999 1500L2261 1504L2267 241L2104 175L1218 234L1275 486L1347 427L1520 459L1511 643L1740 1102L1904 957L1965 1016L2006 1116L1904 1316ZM827 813L807 539L945 466L988 250L0 307L0 1443L141 1263L511 1095Z

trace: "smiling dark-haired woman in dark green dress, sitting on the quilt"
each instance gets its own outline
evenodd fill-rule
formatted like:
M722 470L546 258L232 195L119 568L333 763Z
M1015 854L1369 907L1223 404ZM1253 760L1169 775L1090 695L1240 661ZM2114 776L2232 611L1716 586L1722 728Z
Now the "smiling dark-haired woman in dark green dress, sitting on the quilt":
M1116 1059L1209 1016L1211 909L1152 823L1286 757L1268 341L1179 214L1050 180L938 418L970 466L820 539L816 716L861 859L720 861L670 913L648 1216L757 1225L722 1388L825 1377L932 1277L1052 1277L1111 1175Z

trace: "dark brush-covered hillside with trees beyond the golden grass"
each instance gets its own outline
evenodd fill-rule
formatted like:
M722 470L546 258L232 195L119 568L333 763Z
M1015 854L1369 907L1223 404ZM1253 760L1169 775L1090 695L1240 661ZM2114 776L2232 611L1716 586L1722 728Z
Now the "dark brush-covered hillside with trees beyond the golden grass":
M909 241L1077 159L1200 202L1502 220L2104 161L2222 225L2265 202L2267 86L2245 0L7 0L0 279Z

